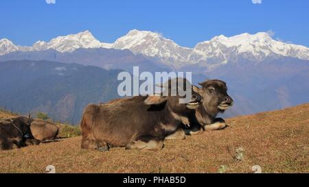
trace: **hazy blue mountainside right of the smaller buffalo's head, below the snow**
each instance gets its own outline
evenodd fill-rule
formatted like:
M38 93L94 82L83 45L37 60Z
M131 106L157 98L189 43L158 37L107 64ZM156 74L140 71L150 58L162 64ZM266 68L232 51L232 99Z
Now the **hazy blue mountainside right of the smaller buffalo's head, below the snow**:
M207 73L223 79L235 105L227 115L253 114L309 102L309 61L277 58L256 63L238 59Z

